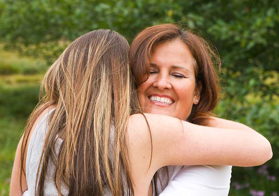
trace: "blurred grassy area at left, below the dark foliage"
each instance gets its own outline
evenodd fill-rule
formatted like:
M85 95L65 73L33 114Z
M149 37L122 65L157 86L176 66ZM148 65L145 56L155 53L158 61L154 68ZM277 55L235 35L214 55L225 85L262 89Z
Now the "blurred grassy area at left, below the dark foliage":
M48 66L1 50L0 59L0 196L7 196L15 150Z

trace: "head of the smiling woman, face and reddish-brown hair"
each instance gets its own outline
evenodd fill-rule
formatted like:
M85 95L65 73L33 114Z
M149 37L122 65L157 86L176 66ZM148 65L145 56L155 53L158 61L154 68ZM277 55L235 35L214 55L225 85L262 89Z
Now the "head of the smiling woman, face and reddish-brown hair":
M144 111L208 125L220 95L215 68L221 63L205 40L174 24L152 26L133 40L129 57ZM173 103L155 107L152 96Z

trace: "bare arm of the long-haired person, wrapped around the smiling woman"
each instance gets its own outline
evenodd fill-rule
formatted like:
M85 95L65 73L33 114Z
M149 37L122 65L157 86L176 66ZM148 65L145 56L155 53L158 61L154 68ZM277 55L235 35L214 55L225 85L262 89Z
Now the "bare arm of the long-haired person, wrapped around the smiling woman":
M255 130L198 126L177 118L144 114L128 122L132 159L148 168L166 165L261 165L272 157L270 143ZM148 129L150 127L150 133ZM151 137L150 137L151 134ZM151 146L152 139L152 146Z

